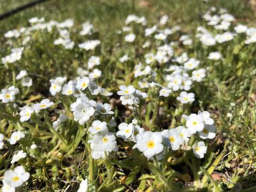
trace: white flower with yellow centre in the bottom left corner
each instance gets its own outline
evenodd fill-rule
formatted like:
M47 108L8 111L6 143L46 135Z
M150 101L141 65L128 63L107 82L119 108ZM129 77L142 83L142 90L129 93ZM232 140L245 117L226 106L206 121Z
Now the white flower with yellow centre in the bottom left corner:
M29 179L29 176L23 166L17 166L14 170L4 172L3 182L11 187L19 187Z

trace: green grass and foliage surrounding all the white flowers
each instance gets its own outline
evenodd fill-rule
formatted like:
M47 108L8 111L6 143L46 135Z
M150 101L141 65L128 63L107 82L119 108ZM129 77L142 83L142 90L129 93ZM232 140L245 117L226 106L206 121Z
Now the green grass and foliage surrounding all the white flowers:
M27 2L29 1L2 0L0 13ZM0 87L3 89L15 83L21 90L21 97L17 101L20 106L25 105L24 101L35 97L35 95L39 95L38 98L40 99L37 98L33 102L39 102L43 98L50 98L50 100L59 104L59 106L54 106L57 110L50 110L49 118L52 118L50 121L57 116L59 109L65 108L65 106L61 105L62 102L65 102L65 98L54 98L50 95L49 79L57 76L67 76L68 79L75 78L77 67L84 67L84 63L90 55L99 55L101 57L101 65L98 68L102 70L103 77L97 83L102 87L108 87L109 91L112 92L118 91L118 86L121 84L133 84L139 88L137 80L131 77L130 74L134 65L139 61L143 61L143 55L150 50L141 49L145 39L143 39L141 32L143 29L140 25L133 28L139 34L133 45L127 45L123 42L124 36L116 34L116 31L124 26L127 15L144 15L147 19L147 26L151 27L158 22L161 15L167 14L170 17L169 27L174 25L181 26L182 32L173 36L175 40L178 40L181 34L194 35L198 26L205 26L201 16L211 6L227 9L230 14L236 17L237 20L235 22L245 22L249 26L253 26L255 23L255 13L250 4L248 1L242 0L212 0L209 3L197 0L59 0L36 5L0 21L1 58L9 54L12 48L7 39L3 37L3 34L8 30L23 26L27 27L29 25L28 19L32 17L44 17L46 21L56 20L58 22L74 18L75 25L70 29L70 36L75 44L77 45L88 39L100 39L100 48L98 47L91 52L80 51L77 46L73 50L65 50L63 47L55 46L52 43L54 39L58 38L56 31L53 30L52 33L35 31L31 35L32 43L26 46L21 60L17 61L13 67L5 67L1 64ZM85 21L92 22L96 31L90 37L78 35L79 30L81 30L81 24ZM153 121L155 120L153 125L155 130L180 125L180 116L183 113L190 114L196 113L198 110L207 110L213 114L215 125L217 126L217 138L209 145L210 152L207 154L205 161L199 162L195 160L196 162L194 162L196 164L196 171L194 172L199 172L201 176L204 175L203 180L207 181L202 191L212 191L214 186L215 191L235 191L235 188L239 187L239 185L243 189L249 188L247 191L254 191L254 188L251 187L254 187L256 183L256 60L254 58L256 49L254 44L245 46L240 40L236 39L231 43L223 44L223 46L216 48L225 57L225 61L219 63L206 59L210 50L205 49L203 46L196 44L187 50L185 47L179 47L180 50L187 51L190 57L200 59L201 67L210 68L209 76L204 84L197 84L193 88L193 92L196 94L196 102L185 108L178 105L175 98L163 99L158 97L156 100L152 97L147 100L147 103L141 109L141 114L143 114L145 110L155 110L153 101L156 100L158 105L162 103L161 107L166 115L157 114L156 119L153 119ZM13 41L13 47L17 46L20 46L20 42ZM156 50L154 48L152 49L153 51ZM130 54L133 59L127 63L127 66L122 66L118 62L118 58L125 53ZM21 69L26 69L29 76L33 78L33 86L29 90L21 87L17 81L13 82L13 72L17 75ZM158 71L157 78L161 81L161 71ZM111 104L114 106L113 110L115 110L117 123L122 123L125 120L129 122L136 115L129 115L131 111L118 104L119 97L116 94L111 98L113 98ZM107 103L110 102L108 98L100 99ZM67 105L69 105L69 102L67 101ZM230 103L235 105L230 105ZM5 106L1 104L0 108L1 110L5 109ZM176 108L177 111L175 111ZM227 117L227 113L231 113L233 117ZM152 118L150 112L149 116ZM24 190L61 191L62 189L67 189L67 191L76 191L80 182L79 179L93 174L94 180L90 183L90 191L94 191L93 188L99 188L100 186L100 191L114 191L114 189L116 191L118 191L117 189L131 191L143 185L145 185L144 191L146 189L150 191L153 188L156 191L165 191L165 187L162 186L164 182L161 180L161 175L163 176L162 170L159 171L159 167L156 169L153 163L148 163L147 167L145 167L145 157L136 154L138 151L131 152L131 149L125 149L127 147L125 145L130 145L130 143L123 143L118 140L121 152L116 157L111 156L110 159L104 162L92 162L89 159L90 147L86 143L88 137L84 135L81 141L77 139L79 127L76 122L71 122L70 120L68 127L66 127L68 129L60 133L68 140L69 145L74 145L76 140L80 141L74 150L72 147L67 148L63 145L60 137L52 130L49 130L47 124L45 124L45 119L41 123L42 125L38 122L33 122L32 127L34 128L32 130L26 124L1 117L0 132L4 133L6 137L7 135L10 137L12 131L18 129L29 132L28 143L25 141L20 143L19 150L28 150L26 147L30 146L31 141L42 146L40 148L42 151L39 151L39 154L42 155L36 154L37 158L28 156L26 160L23 159L19 162L26 167L26 170L31 175ZM113 131L117 131L117 128ZM10 168L10 158L13 151L18 150L18 146L15 146L16 148L11 146L10 149L4 148L0 151L1 176L3 176L5 170ZM223 151L223 154L221 154L221 151ZM138 156L128 158L129 153ZM221 155L218 156L219 154ZM198 164L201 165L201 168L206 169L210 175L218 175L219 180L212 181L207 178L206 171L204 172L203 169L200 169ZM92 166L93 170L91 170ZM164 172L167 175L165 175L166 177L169 175L171 179L179 178L179 186L193 186L195 174L193 175L193 170L189 170L189 166L185 162L175 166L166 166L169 169L169 172L166 170ZM185 168L183 169L182 167ZM163 169L166 169L166 167ZM159 172L161 173L159 174ZM184 179L186 177L189 179ZM191 187L190 190L195 191L196 188Z

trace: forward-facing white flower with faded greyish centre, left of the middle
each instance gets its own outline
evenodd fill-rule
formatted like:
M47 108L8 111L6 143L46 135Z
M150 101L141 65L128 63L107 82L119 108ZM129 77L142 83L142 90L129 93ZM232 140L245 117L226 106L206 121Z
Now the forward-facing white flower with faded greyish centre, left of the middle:
M94 114L94 108L89 102L81 102L73 109L74 120L83 125Z

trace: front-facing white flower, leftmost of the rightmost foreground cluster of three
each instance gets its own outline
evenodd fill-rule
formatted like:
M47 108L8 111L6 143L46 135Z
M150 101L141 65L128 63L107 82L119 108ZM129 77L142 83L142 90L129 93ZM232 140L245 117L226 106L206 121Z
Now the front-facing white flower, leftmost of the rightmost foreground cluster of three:
M191 134L204 129L204 120L201 115L190 114L187 117L186 126Z

